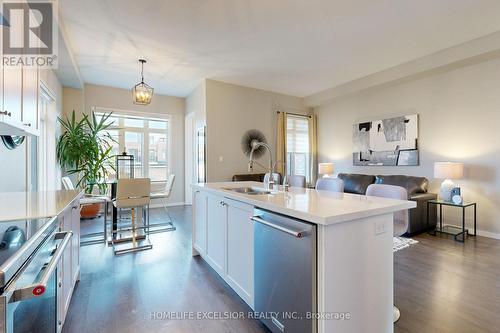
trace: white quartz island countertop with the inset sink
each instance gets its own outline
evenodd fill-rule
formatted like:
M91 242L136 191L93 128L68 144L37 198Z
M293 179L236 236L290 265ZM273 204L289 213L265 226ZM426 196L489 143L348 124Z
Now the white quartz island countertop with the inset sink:
M265 188L264 184L259 182L222 182L192 185L195 190L218 194L229 199L321 225L341 223L416 207L414 201L298 187L290 187L288 192L284 192L282 187L279 186L273 194L259 195L248 195L227 190L227 188L248 186Z

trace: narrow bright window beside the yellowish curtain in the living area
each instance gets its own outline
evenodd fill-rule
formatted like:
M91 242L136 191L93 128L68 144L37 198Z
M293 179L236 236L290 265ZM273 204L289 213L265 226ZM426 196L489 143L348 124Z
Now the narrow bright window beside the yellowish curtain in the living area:
M311 148L309 117L287 115L286 166L288 175L301 175L311 182Z

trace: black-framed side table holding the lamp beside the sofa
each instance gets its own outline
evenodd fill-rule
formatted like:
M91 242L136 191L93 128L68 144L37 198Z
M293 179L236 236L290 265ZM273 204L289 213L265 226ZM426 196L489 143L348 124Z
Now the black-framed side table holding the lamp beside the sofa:
M427 201L427 229L429 228L429 211L430 211L430 206L431 205L438 205L439 206L439 227L436 226L434 231L430 231L429 233L432 235L436 235L437 232L443 233L443 234L448 234L448 235L453 235L455 240L457 242L463 243L465 241L465 235L467 236L476 236L476 203L475 202L470 202L470 203L462 203L462 204L455 204L453 202L448 202L448 201L443 201L443 200L429 200ZM451 225L447 225L443 227L443 206L450 206L450 207L458 207L462 208L462 228L460 227L455 227ZM474 207L474 234L469 233L469 229L465 229L465 209L467 207Z

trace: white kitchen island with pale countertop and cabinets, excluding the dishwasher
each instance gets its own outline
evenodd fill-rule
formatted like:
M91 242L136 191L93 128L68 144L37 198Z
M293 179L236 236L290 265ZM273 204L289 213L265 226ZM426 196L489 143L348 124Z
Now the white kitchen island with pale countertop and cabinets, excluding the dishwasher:
M195 184L193 190L193 255L203 257L253 310L260 310L255 309L256 281L268 275L258 271L262 266L254 257L262 247L260 240L254 243L256 221L262 219L254 215L262 211L314 227L312 332L393 331L393 213L414 208L414 202L304 188L284 191L257 182ZM267 254L288 255L292 259L283 261L293 260L294 253L286 250ZM273 281L275 288L281 282ZM291 296L290 303L296 303ZM273 331L284 329L279 320L272 321ZM292 326L285 331L293 332Z

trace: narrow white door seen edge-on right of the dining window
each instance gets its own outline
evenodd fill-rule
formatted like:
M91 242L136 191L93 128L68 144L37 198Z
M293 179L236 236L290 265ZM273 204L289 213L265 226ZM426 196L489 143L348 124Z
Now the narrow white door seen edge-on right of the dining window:
M191 184L195 182L194 169L194 112L187 114L184 119L184 177L186 205L193 203L193 190Z

